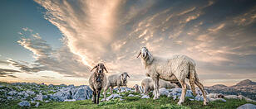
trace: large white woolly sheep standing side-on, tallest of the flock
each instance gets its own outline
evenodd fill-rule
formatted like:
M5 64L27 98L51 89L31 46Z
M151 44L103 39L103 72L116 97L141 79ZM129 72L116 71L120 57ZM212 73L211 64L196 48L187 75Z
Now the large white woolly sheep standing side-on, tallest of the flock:
M178 105L181 105L185 101L185 94L187 90L187 85L185 83L185 78L189 78L191 90L193 95L196 95L194 84L196 84L204 96L204 105L207 105L206 92L204 91L204 86L199 83L198 75L195 71L195 63L193 59L190 59L185 55L174 55L169 59L164 59L160 57L153 57L147 48L142 47L137 58L140 56L141 62L145 65L146 75L153 79L154 81L154 99L160 97L159 93L159 79L165 81L179 81L182 87L182 93Z

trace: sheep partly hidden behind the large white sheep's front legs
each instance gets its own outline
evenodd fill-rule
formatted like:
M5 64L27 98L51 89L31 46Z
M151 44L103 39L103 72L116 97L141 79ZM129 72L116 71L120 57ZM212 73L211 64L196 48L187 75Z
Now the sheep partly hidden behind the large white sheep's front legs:
M141 87L143 89L144 94L148 94L150 91L154 90L154 82L152 78L145 78L141 81ZM159 80L159 88L175 88L175 84L166 82L164 80Z

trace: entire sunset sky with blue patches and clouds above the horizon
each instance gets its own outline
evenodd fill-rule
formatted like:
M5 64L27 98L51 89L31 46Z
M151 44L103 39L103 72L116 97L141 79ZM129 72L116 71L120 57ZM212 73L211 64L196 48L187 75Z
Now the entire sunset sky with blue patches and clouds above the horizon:
M0 81L88 84L101 62L133 86L143 46L194 59L204 86L256 81L254 0L2 0L0 14Z

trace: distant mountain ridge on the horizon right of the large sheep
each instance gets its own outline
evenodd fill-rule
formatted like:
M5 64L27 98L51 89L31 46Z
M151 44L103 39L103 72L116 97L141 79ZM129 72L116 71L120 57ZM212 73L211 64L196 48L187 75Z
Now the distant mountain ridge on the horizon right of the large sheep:
M227 87L223 84L216 84L211 87L205 87L208 92L224 93L227 95L242 94L245 97L256 100L256 82L253 82L249 79L245 79L234 86Z

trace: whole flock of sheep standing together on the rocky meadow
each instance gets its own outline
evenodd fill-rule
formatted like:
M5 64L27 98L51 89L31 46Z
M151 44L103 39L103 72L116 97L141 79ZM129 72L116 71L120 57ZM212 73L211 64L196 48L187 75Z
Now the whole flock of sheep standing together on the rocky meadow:
M141 58L142 64L145 66L146 75L150 78L145 78L141 82L141 87L143 91L139 90L139 86L135 84L135 92L143 92L148 94L151 90L154 90L154 99L160 98L159 88L175 88L175 84L182 88L182 93L180 101L178 102L181 105L182 102L185 102L185 94L188 88L185 83L185 79L190 80L190 87L193 92L193 95L196 95L195 85L199 87L204 97L204 105L207 105L208 101L206 98L206 92L204 91L204 86L202 83L199 83L198 75L195 71L195 63L193 59L190 59L185 55L174 55L169 59L164 59L156 57L150 54L150 51L142 47L137 58ZM106 98L106 90L110 88L111 93L113 92L113 87L119 88L121 86L127 87L127 77L130 78L128 73L113 74L106 78L107 73L106 67L104 64L99 63L93 69L96 69L95 72L91 73L89 78L89 84L92 88L92 101L94 103L99 103L100 92L104 89L104 98ZM91 69L91 71L93 70ZM163 80L165 81L163 81ZM167 82L166 82L167 81ZM175 84L173 84L175 83Z

